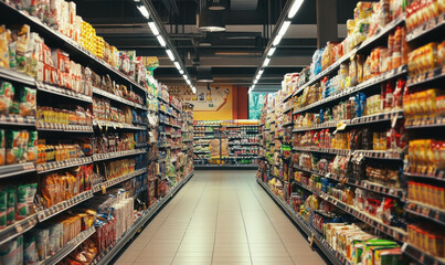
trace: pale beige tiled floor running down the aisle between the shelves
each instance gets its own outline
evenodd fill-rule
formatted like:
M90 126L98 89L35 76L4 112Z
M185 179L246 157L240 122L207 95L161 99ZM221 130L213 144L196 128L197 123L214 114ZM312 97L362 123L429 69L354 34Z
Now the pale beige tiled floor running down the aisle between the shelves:
M326 264L256 183L255 171L195 171L117 265Z

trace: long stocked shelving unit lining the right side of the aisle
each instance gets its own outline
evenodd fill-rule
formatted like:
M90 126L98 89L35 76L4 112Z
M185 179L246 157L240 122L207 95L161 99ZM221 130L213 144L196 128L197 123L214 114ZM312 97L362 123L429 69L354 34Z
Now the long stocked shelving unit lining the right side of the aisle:
M441 33L445 29L444 18L445 14L441 14L407 32L406 38L402 39L402 49L410 44L414 53L413 49L421 47L431 40L443 42ZM333 63L324 66L325 68L318 74L314 74L311 68L285 76L283 91L269 95L262 109L259 131L263 138L257 182L309 236L316 231L317 224L305 220L315 219L315 214L318 214L317 218L320 216L317 212L319 210L336 212L345 220L337 222L364 224L364 227L373 231L367 233L399 244L399 250L406 261L425 265L444 264L443 257L434 256L432 248L427 246L420 247L416 245L418 242L415 243L415 239L410 236L412 233L418 234L418 231L428 236L439 235L441 229L445 225L444 208L439 206L437 200L425 201L428 195L421 197L422 191L418 191L416 197L413 188L418 186L425 187L425 190L431 189L428 194L433 194L434 189L444 188L445 171L432 163L423 166L424 161L415 160L413 152L416 151L415 145L421 145L423 141L426 142L423 145L442 144L443 138L438 131L443 128L445 119L434 112L418 118L417 113L414 113L417 116L406 113L410 109L404 104L409 104L406 100L411 95L407 94L422 93L430 87L441 88L437 95L425 94L427 95L425 98L430 97L428 100L433 102L442 95L441 82L445 67L428 65L431 70L418 74L418 70L412 70L418 66L413 66L406 61L409 56L404 50L400 66L371 75L350 87L335 89L324 83L326 80L333 82L333 77L340 78L340 67L345 65L349 67L357 56L361 56L361 62L365 62L367 56L374 52L375 47L382 45L385 47L386 40L393 32L406 30L405 19L406 14L402 13L349 53L336 57ZM414 71L417 71L415 75ZM298 85L294 89L295 83ZM399 97L396 98L399 102L390 102L391 105L385 105L383 102L377 110L370 108L365 108L362 113L354 110L356 104L359 103L351 98L360 96L368 99L381 93L380 98L385 99L386 92L393 93L398 84L402 84L401 94L394 94ZM322 91L324 85L326 92ZM414 95L411 98L414 98ZM411 104L422 105L420 100L426 102L420 98ZM367 102L364 107L371 106L368 104ZM394 141L394 132L404 140ZM375 140L381 139L378 134L386 134L382 137L384 141L382 140L383 144L380 146ZM369 135L370 137L365 138ZM347 138L345 145L342 137ZM431 138L431 144L427 138ZM413 144L414 141L418 144ZM435 150L435 147L427 148L432 152ZM380 170L386 173L381 174ZM379 179L379 176L385 178ZM388 178L389 176L391 178ZM348 192L351 192L351 197ZM357 201L358 194L362 200L375 200L380 204L384 201L395 203L396 206L391 208L391 212L398 211L399 214L393 214L391 222L384 220L381 214L361 208L361 203ZM294 197L303 202L298 201L298 204L294 205ZM324 209L310 209L309 205L312 204L308 198L312 197L322 203ZM294 206L298 208L298 212L294 211ZM325 224L331 222L327 216L322 219ZM319 243L317 245L331 263L352 264L352 261L348 261L327 242L324 245L325 234L318 233L318 236L321 240L315 242ZM314 237L317 239L317 235Z

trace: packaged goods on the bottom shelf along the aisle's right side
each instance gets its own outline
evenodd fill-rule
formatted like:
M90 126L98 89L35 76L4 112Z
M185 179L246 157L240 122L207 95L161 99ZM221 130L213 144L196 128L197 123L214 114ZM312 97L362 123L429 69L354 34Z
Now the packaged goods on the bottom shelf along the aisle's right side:
M314 195L305 201L298 194L279 192L284 187L276 187L273 181L266 184L257 178L257 182L307 234L309 244L316 244L332 264L407 264L403 247L395 241L384 240L384 234L375 235L371 226L332 211L311 210L317 209L311 206L317 204Z

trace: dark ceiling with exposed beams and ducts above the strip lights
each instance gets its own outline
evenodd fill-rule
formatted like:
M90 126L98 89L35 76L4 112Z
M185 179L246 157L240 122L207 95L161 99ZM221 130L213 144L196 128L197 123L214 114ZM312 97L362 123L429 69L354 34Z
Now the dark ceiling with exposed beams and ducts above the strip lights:
M205 34L195 26L199 0L151 0L192 80L197 76L199 62L200 66L212 67L215 84L248 86L286 0L226 1L226 31ZM155 77L167 85L184 85L134 0L75 2L77 13L108 43L119 50L136 50L138 55L158 56L160 66L155 71ZM357 2L337 0L339 40L346 36L345 23L352 18ZM199 45L204 38L210 40L211 46ZM284 74L299 72L309 65L316 49L316 1L305 0L258 85L279 86Z

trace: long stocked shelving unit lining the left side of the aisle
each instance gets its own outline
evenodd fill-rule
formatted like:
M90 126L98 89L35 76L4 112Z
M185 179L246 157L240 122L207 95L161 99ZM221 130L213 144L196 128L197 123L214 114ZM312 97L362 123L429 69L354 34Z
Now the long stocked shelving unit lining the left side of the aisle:
M10 131L17 131L17 135L23 138L27 136L31 139L32 137L30 140L32 145L30 142L21 144L29 148L24 150L24 152L29 151L29 156L23 156L20 161L19 159L17 161L7 160L8 163L15 163L0 166L0 178L3 179L3 183L8 183L8 188L11 187L13 192L18 192L19 186L23 186L23 182L24 184L35 184L35 193L39 195L39 198L31 198L35 205L29 209L27 216L21 216L22 220L12 220L10 224L0 230L0 245L33 237L40 231L62 223L67 216L65 213L70 212L70 216L75 215L77 211L85 211L85 205L91 206L91 203L97 203L102 195L113 194L115 197L125 191L125 200L131 201L133 204L129 204L131 210L139 212L141 218L127 229L121 239L114 242L112 251L97 253L104 257L103 261L106 261L105 264L107 264L193 176L192 149L183 148L190 147L191 144L182 146L181 142L183 137L181 129L186 128L186 126L182 128L182 121L179 121L183 118L182 103L174 97L168 97L168 100L160 97L161 85L152 76L148 76L149 73L140 72L139 77L142 74L146 76L140 82L136 81L136 77L131 77L130 74L120 72L119 66L112 65L96 56L81 43L49 26L39 18L30 15L28 11L18 10L14 2L0 1L0 24L7 24L7 29L12 23L28 24L29 28L25 28L29 30L28 33L36 33L41 38L42 47L46 49L49 57L45 57L47 61L41 62L40 60L43 59L40 55L36 56L39 63L47 66L50 61L57 61L59 53L61 53L65 56L63 60L66 60L63 62L71 64L68 68L75 64L82 72L80 73L81 82L75 86L74 82L68 84L65 80L62 82L52 78L43 82L40 75L33 77L15 68L0 67L1 82L10 82L15 88L15 95L21 95L22 89L27 87L30 93L27 100L29 98L34 100L27 115L0 115L3 139ZM36 38L36 35L34 36ZM57 56L54 57L54 54ZM57 64L51 65L51 70L60 71L60 73L55 73L57 75L66 74L71 82L71 78L74 78L72 75L75 73L65 73L57 65L60 65L59 61ZM146 67L147 65L142 66L144 70ZM177 171L173 176L174 181L169 179L171 188L166 191L167 193L150 197L152 189L157 189L156 186L160 184L163 178L151 179L156 177L155 166L162 161L170 162L166 157L159 156L157 139L151 137L159 131L158 124L152 123L156 119L148 120L148 117L158 116L163 110L158 109L158 98L173 109L168 113L172 119L166 124L171 127L170 136L176 139L178 145L169 144L169 152L184 150L188 156L184 159L172 160L176 161ZM105 108L108 112L105 112ZM100 109L104 112L99 112ZM192 108L188 109L188 116L192 117ZM191 119L187 119L187 121L192 123ZM186 130L190 131L190 129ZM192 136L188 136L189 142L191 139ZM18 141L22 138L13 140ZM35 156L32 158L31 150L34 149L31 148L34 147L35 153L33 155ZM21 152L23 151L21 150ZM3 153L3 158L6 158L6 153ZM51 178L51 181L45 182L46 178ZM62 178L65 182L60 180ZM153 182L150 182L151 180ZM47 183L52 186L65 183L68 188L63 195L55 198L53 193L51 195L44 193L43 190ZM2 184L1 190L3 187L7 184ZM134 193L130 193L133 191ZM155 201L155 205L150 206L149 199ZM29 198L27 200L30 201ZM17 204L17 202L14 203ZM92 212L97 211L97 208L94 206L88 209ZM77 218L77 215L75 216ZM100 229L107 222L100 224L95 222L94 215L89 229L76 234L70 242L61 245L56 253L39 261L39 264L59 264L64 258L68 258L70 254L80 245L96 241L96 229ZM80 231L81 227L78 227ZM96 258L96 262L98 259Z

